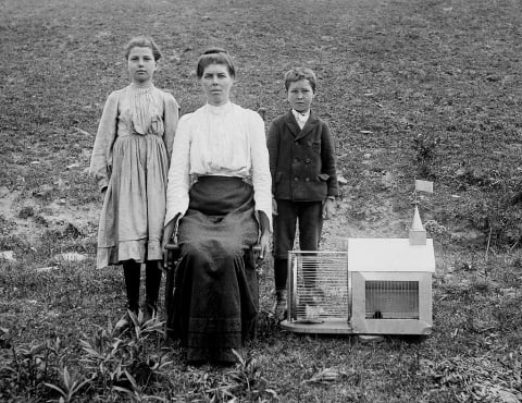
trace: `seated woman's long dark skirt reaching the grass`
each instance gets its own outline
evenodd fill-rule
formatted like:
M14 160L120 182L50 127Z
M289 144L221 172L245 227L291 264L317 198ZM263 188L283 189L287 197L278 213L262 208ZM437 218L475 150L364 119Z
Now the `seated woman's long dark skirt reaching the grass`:
M238 178L203 176L179 221L181 259L166 290L166 326L189 362L234 362L254 334L258 241L252 187Z

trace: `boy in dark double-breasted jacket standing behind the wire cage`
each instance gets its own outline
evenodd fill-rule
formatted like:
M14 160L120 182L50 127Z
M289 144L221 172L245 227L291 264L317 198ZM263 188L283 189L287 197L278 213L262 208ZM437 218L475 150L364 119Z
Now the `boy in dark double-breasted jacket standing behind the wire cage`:
M315 97L316 76L298 68L285 74L291 110L275 119L269 130L268 147L274 196L274 316L286 315L288 251L294 247L299 222L301 251L316 251L323 217L334 213L338 196L334 144L330 127L310 109ZM312 273L313 274L313 273ZM307 276L306 276L307 277ZM313 286L313 279L304 279Z

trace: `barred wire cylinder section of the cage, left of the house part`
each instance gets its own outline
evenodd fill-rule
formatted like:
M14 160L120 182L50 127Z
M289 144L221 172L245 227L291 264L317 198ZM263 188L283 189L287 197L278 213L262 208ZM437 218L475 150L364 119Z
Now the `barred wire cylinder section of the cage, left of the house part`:
M291 251L288 266L290 321L350 319L347 252Z

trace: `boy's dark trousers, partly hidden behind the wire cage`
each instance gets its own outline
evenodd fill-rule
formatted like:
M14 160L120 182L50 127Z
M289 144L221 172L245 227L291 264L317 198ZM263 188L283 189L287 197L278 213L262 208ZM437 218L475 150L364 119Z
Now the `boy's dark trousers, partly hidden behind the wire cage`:
M288 251L294 248L296 225L299 224L301 251L318 251L323 227L322 202L291 202L276 199L274 217L274 280L275 291L286 290L288 278ZM304 285L313 286L315 270L304 274Z

